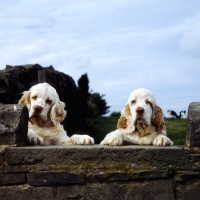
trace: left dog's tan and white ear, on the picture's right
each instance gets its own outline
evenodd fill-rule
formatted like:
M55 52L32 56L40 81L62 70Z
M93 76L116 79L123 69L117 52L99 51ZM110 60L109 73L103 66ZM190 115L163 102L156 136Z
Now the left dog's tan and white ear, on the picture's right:
M51 121L54 126L56 126L59 122L61 122L66 117L66 111L64 110L65 104L61 101L55 103L51 108Z

